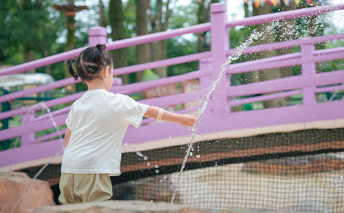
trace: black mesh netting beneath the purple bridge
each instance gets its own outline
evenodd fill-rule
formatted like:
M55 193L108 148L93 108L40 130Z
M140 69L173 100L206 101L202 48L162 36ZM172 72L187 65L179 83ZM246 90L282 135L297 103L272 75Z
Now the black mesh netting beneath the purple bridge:
M111 177L118 200L170 202L188 144L123 153ZM41 168L21 170L33 177ZM61 164L48 166L56 203ZM344 128L197 142L175 202L204 208L344 212Z

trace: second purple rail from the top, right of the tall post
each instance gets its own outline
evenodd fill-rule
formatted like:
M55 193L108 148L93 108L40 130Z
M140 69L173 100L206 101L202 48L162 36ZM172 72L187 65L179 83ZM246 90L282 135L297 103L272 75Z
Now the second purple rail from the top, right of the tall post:
M248 54L252 52L263 52L270 49L282 49L282 48L288 48L288 47L297 47L301 45L324 43L326 41L341 40L343 38L344 38L344 34L333 34L333 35L326 35L326 36L300 38L300 39L292 40L292 41L279 41L275 43L267 43L264 45L250 46L244 49L242 53ZM226 52L226 54L227 56L230 56L234 54L235 51L236 49L229 49Z

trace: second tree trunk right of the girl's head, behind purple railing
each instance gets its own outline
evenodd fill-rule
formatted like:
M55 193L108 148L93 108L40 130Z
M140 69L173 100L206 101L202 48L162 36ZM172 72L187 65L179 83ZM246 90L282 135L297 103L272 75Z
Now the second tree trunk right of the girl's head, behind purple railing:
M148 34L148 15L149 0L136 0L136 34L137 36ZM136 46L136 64L148 63L150 60L149 43ZM143 71L136 73L136 82L143 76Z

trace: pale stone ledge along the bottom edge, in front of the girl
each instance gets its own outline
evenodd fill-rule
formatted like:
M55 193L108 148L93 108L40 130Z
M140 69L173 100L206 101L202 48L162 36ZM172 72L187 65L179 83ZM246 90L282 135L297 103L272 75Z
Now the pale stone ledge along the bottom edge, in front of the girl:
M294 211L263 210L248 208L228 208L226 210L195 208L169 203L151 203L147 201L107 201L102 203L83 203L73 205L56 205L25 213L297 213Z

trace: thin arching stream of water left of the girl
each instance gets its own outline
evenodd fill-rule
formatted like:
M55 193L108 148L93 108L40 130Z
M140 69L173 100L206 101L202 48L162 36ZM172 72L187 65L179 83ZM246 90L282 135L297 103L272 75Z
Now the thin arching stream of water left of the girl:
M13 213L14 210L17 208L17 206L19 205L19 202L21 201L21 199L23 198L23 195L25 194L25 192L28 190L28 188L31 186L31 184L33 183L33 181L39 177L39 175L41 175L41 173L43 172L43 170L45 170L45 168L50 164L50 162L55 158L57 157L58 155L60 155L64 150L65 150L65 144L63 143L63 140L62 140L62 135L60 133L60 130L58 129L58 126L54 120L54 117L52 117L52 113L50 112L50 109L49 107L47 107L47 105L45 105L43 102L39 102L37 104L34 104L30 107L30 109L28 110L28 112L25 114L25 117L23 119L23 122L21 122L21 126L19 128L19 132L18 132L18 135L17 135L17 138L16 138L16 142L14 143L14 148L13 148L13 151L12 151L12 157L11 157L11 161L10 161L10 166L8 168L8 172L11 171L11 166L12 166L12 161L13 161L13 157L14 157L14 150L15 148L17 147L17 142L18 142L18 138L19 138L19 135L21 134L21 128L23 127L23 124L25 123L25 120L27 119L28 117L28 114L30 113L30 111L32 111L33 109L35 109L36 107L38 106L43 106L43 108L47 111L47 113L49 114L49 117L50 117L50 120L52 120L52 124L54 125L54 127L56 128L56 131L58 133L58 138L60 139L60 143L61 143L61 150L59 150L49 161L47 161L47 163L39 170L39 172L36 173L36 175L34 175L34 177L31 179L29 185L25 188L25 190L23 191L23 193L21 193L21 196L19 197L17 203L14 204L12 210L10 213Z

